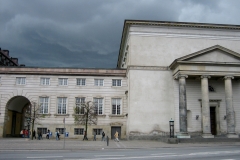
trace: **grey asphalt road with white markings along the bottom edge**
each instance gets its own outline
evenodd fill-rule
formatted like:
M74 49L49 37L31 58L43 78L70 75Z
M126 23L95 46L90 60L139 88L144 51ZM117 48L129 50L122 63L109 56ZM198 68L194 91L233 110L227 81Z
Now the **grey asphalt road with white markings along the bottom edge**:
M240 160L240 146L0 151L1 160Z

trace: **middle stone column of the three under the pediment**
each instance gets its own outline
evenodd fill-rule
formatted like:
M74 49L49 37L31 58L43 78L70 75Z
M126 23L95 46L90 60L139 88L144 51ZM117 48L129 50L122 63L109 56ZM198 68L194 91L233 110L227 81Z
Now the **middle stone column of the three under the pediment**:
M203 138L214 138L211 134L210 124L210 107L209 107L209 94L208 94L208 78L210 76L201 76L201 90L202 90L202 124L203 124Z

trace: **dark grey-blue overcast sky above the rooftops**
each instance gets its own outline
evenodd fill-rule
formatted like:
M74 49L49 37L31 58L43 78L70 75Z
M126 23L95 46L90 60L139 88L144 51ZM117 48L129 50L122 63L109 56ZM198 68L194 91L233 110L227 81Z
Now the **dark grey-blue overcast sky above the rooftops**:
M116 68L125 19L240 24L240 0L0 0L0 47L20 64Z

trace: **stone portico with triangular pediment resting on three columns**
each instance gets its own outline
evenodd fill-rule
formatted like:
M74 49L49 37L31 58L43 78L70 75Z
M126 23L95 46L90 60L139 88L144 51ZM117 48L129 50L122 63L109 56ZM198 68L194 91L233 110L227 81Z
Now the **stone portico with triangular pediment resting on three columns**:
M208 55L215 54L216 59L209 60ZM211 56L212 56L211 55ZM224 57L224 58L222 58ZM224 62L222 61L224 59ZM171 65L173 77L179 84L179 136L187 138L187 96L186 79L200 79L201 81L201 124L202 137L214 138L211 131L211 106L209 99L209 79L224 81L223 99L226 102L227 137L238 138L235 133L235 115L233 106L232 80L240 78L240 54L230 51L222 46L213 46L202 51L176 59ZM214 108L212 111L216 112ZM216 117L214 118L216 120ZM218 122L219 123L219 122ZM182 136L185 135L185 136ZM190 137L190 136L189 136Z

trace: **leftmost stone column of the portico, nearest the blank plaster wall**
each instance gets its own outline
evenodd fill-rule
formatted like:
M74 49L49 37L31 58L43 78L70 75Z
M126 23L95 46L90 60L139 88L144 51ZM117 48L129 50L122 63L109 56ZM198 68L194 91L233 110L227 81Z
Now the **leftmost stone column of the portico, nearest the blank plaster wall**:
M187 133L187 96L186 78L187 75L179 75L179 125L180 134L178 138L190 138Z

